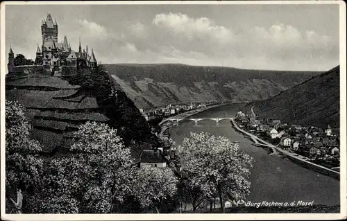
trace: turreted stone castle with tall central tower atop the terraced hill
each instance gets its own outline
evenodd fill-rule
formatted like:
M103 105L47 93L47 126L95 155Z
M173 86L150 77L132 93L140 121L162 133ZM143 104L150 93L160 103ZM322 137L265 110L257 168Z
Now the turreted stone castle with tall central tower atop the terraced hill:
M34 66L43 66L49 68L50 71L58 71L60 73L62 67L69 67L72 69L83 69L86 67L95 69L97 67L93 49L91 53L88 51L88 46L82 50L81 38L78 52L71 50L66 35L62 42L58 42L58 24L56 19L53 21L50 13L48 13L46 19L42 19L41 34L42 46L40 47L39 44L37 44ZM9 73L13 73L17 69L14 61L15 55L12 48L10 48L10 52L8 53Z

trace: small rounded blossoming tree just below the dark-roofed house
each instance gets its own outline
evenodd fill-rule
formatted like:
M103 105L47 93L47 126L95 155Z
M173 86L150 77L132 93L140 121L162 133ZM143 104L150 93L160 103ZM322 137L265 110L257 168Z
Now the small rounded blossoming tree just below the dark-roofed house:
M160 213L162 202L176 194L178 179L170 168L140 168L136 177L134 194L144 208Z

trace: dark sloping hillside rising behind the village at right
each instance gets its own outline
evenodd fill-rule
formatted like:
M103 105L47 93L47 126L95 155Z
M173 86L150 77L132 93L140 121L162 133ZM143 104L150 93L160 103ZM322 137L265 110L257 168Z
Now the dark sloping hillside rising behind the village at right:
M260 118L280 119L287 123L339 127L340 67L321 73L277 96L248 104Z

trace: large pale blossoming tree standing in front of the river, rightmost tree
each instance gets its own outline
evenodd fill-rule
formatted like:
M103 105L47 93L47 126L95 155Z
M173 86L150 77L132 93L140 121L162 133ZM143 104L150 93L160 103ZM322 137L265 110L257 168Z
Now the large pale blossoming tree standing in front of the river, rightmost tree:
M191 133L178 147L189 188L211 197L218 195L223 213L225 200L244 199L250 193L253 159L229 139L206 132Z

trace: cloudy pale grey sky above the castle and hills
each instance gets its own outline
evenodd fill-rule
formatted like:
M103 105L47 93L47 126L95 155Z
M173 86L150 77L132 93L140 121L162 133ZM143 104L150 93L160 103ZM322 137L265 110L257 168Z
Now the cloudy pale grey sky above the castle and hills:
M98 62L326 71L339 64L339 5L6 6L10 46L35 60L50 12L74 51ZM7 60L6 60L7 62Z

